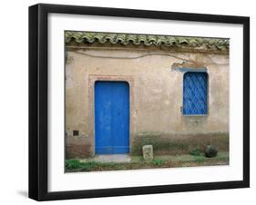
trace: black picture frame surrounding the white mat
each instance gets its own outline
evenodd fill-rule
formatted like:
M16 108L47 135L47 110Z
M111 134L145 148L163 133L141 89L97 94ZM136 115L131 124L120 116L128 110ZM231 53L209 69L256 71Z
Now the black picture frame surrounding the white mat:
M100 190L47 190L47 16L50 13L107 15L243 25L243 180L156 185ZM250 187L250 18L230 15L200 15L76 5L29 7L29 198L67 200L192 190Z

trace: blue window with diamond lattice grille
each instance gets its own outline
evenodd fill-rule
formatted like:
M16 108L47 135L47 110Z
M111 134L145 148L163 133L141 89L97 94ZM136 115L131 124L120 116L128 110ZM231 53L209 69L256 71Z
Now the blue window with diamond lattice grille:
M207 92L207 73L185 73L183 79L183 114L207 114Z

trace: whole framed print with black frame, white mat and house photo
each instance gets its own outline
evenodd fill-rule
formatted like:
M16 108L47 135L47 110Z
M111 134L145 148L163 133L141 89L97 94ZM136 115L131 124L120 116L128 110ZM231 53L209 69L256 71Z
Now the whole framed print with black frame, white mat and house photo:
M29 7L29 197L250 186L250 19Z

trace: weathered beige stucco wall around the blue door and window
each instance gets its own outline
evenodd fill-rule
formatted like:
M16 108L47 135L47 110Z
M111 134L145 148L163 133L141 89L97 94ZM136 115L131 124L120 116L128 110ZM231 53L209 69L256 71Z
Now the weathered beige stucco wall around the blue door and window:
M205 68L209 74L207 115L182 115L184 67ZM171 141L187 142L184 150L210 142L219 144L220 149L228 149L228 54L67 47L67 158L94 154L94 83L97 80L129 83L131 152L138 152L144 142L157 145L163 142L161 148ZM79 135L73 136L73 131L79 131Z

